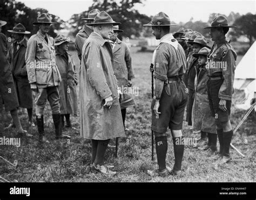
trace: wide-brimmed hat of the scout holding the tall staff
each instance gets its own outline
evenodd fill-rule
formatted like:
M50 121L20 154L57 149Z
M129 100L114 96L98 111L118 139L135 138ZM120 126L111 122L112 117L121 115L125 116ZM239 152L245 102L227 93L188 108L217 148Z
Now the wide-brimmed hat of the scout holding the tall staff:
M151 22L144 24L143 26L179 26L178 24L171 24L169 16L164 12L159 12L152 17Z

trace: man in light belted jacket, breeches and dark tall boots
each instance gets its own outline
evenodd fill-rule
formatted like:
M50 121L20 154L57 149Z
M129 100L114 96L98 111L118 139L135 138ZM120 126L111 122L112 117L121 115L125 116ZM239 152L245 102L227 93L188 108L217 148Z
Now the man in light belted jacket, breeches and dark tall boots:
M33 25L39 25L39 31L32 35L28 41L25 60L28 71L29 83L32 91L36 92L36 121L39 133L39 141L45 141L44 137L44 107L48 99L52 119L55 125L56 139L70 138L62 135L59 111L59 83L61 77L55 62L55 48L53 38L49 32L51 18L47 13L42 13Z

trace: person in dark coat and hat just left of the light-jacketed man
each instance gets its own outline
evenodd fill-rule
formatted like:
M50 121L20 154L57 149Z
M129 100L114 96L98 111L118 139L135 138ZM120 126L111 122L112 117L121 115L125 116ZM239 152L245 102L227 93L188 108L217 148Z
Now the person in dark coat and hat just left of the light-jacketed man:
M12 30L15 41L11 44L7 58L12 66L12 76L14 77L15 88L17 91L19 106L26 108L29 117L29 125L35 126L32 121L33 98L30 88L28 73L26 72L25 53L28 40L25 34L30 34L22 24L17 24Z

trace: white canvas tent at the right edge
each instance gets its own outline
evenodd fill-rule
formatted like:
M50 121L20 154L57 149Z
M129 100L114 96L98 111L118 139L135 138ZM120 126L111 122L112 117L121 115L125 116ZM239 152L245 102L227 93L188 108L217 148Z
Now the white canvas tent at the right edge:
M245 102L235 105L239 109L248 110L251 107L251 99L256 97L255 48L254 42L235 68L234 88L245 92Z

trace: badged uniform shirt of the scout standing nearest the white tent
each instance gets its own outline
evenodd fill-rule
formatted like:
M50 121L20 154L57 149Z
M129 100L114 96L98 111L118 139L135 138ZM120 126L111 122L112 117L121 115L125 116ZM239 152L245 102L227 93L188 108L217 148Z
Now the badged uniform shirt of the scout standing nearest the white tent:
M207 76L224 78L219 98L231 101L233 94L235 60L237 54L227 40L214 42L206 65Z

